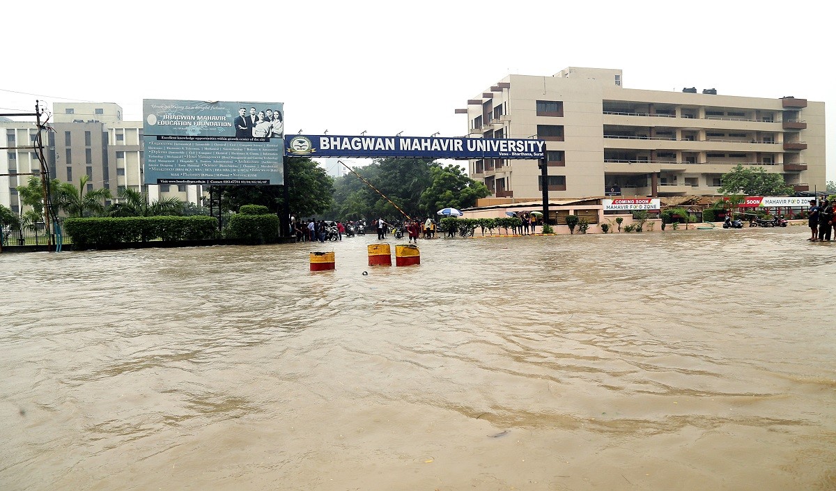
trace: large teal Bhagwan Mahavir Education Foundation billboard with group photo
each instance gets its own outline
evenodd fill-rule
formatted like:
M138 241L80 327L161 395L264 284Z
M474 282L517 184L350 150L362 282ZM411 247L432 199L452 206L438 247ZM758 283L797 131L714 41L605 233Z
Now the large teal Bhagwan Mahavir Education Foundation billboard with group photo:
M143 99L145 184L284 184L282 103Z

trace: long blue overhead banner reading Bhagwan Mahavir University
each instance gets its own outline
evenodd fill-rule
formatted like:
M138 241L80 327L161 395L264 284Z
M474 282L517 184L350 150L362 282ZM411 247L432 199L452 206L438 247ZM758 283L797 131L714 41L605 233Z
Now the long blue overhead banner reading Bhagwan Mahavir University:
M419 159L543 159L542 139L339 136L295 134L285 137L285 153L308 157Z

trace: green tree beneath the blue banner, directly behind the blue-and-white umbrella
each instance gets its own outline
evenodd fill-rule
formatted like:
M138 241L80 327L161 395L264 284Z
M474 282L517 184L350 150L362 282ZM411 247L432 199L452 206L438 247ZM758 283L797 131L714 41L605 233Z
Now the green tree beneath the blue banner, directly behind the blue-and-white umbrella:
M432 184L421 193L421 211L435 215L448 206L461 210L476 205L476 200L491 194L481 182L472 180L458 165L433 165Z

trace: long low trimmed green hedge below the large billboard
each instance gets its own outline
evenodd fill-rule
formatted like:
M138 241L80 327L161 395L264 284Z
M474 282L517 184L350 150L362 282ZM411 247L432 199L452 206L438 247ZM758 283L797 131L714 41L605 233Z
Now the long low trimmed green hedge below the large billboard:
M211 216L125 216L68 218L64 233L74 246L102 247L149 240L206 240L216 237L217 220Z

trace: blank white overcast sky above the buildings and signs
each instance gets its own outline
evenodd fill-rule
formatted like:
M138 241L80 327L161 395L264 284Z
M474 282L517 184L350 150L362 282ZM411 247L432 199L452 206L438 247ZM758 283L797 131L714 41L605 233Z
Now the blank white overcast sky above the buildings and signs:
M29 7L31 5L31 7ZM467 99L509 73L620 68L624 87L824 101L827 2L3 3L0 112L35 99L282 102L285 132L463 136ZM18 94L24 93L24 94ZM836 139L828 130L828 180Z

